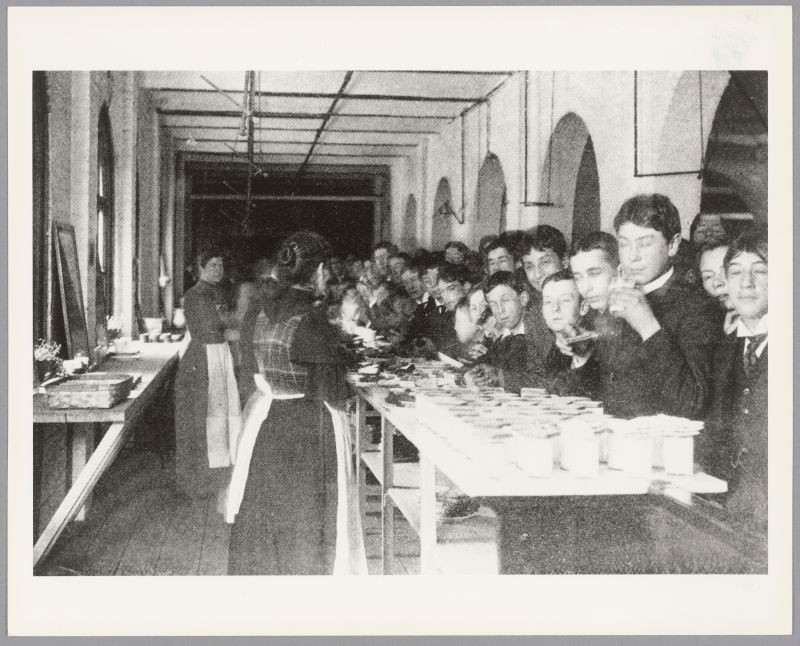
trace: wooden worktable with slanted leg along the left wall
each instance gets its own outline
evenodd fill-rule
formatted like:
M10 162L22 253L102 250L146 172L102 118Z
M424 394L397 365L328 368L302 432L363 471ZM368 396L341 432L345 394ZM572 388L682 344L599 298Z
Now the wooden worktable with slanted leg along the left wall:
M112 408L49 408L46 395L33 395L34 429L41 424L77 424L72 433L72 485L33 547L34 567L47 555L73 519L81 519L84 503L97 481L119 454L120 449L178 365L185 343L142 344L139 354L108 357L104 372L127 373L140 378L128 398ZM102 440L93 450L93 428L87 424L108 424Z

